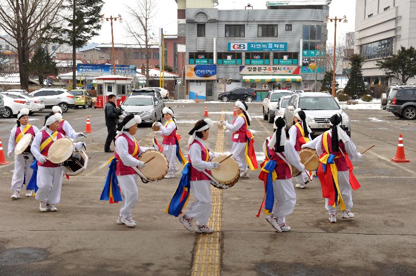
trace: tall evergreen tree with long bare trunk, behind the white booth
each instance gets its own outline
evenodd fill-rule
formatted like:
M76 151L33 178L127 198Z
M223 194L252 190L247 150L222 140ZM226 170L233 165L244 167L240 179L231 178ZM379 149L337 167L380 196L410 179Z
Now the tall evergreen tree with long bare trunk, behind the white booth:
M103 0L64 0L62 8L66 12L64 26L57 28L61 33L58 43L72 46L72 89L76 89L76 49L87 45L88 40L98 36L101 29L100 20Z

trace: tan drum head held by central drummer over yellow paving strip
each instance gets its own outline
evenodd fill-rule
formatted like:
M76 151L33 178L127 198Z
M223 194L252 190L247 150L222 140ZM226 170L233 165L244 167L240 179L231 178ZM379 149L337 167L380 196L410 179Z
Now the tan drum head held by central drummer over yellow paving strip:
M219 162L225 159L226 155L216 156L211 159L212 162ZM220 184L226 184L228 187L232 187L240 178L240 169L236 160L232 157L223 161L218 169L212 169L211 175ZM218 188L218 187L217 187Z

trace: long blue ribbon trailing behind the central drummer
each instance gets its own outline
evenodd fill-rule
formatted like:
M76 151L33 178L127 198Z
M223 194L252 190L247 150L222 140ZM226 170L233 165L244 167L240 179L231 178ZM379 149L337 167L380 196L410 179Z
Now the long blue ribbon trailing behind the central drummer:
M186 189L185 189L186 188ZM182 170L182 177L180 178L179 185L176 188L171 202L168 206L168 214L172 216L179 216L185 207L188 200L189 193L191 191L191 164L186 163Z

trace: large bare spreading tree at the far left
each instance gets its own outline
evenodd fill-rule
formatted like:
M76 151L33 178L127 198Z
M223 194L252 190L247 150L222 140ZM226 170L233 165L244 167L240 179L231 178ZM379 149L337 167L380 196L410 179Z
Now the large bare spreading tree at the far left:
M15 43L0 37L17 50L22 89L28 90L29 56L47 38L50 26L55 24L63 0L2 0L0 27Z

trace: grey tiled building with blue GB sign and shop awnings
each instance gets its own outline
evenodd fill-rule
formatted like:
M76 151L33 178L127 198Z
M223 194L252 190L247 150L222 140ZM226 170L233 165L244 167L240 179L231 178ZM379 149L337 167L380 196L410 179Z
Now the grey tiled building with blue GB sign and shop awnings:
M267 2L267 9L186 8L185 98L217 99L236 87L310 90L315 71L309 64L324 54L330 1L310 3L273 1ZM319 67L318 81L323 73Z

